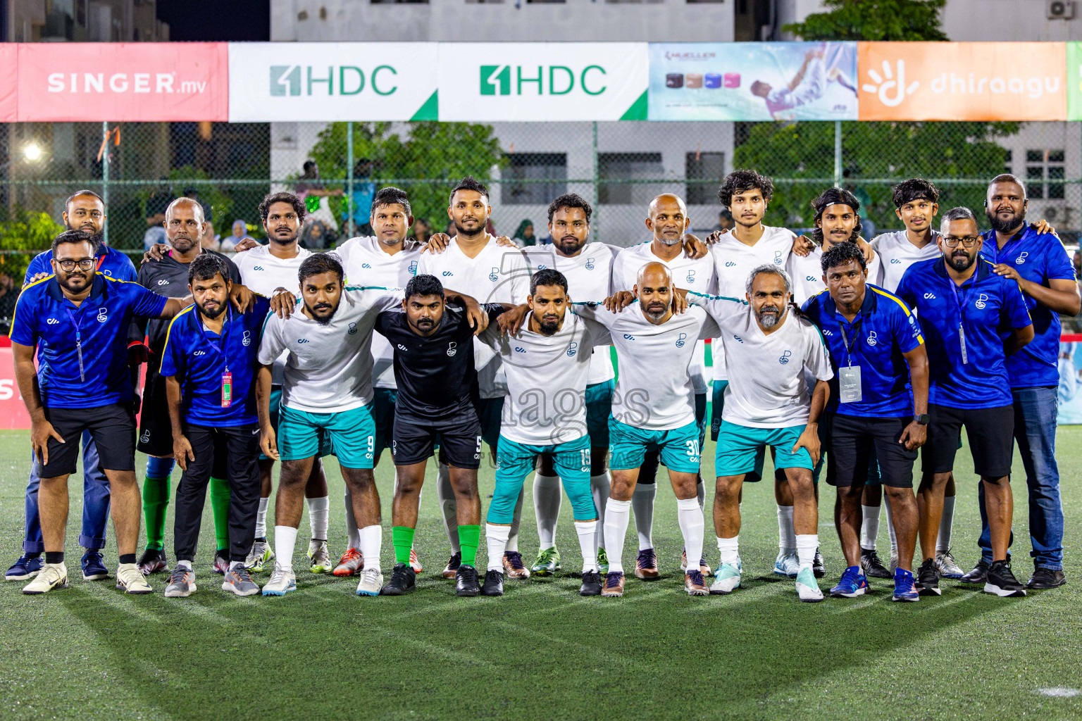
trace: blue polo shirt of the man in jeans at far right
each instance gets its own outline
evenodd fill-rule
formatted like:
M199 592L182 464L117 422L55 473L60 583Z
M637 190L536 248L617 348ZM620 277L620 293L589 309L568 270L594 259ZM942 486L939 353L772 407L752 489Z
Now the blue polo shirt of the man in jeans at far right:
M984 254L992 263L1013 266L1018 275L1040 285L1050 280L1076 280L1074 266L1067 249L1054 235L1039 235L1026 225L998 248L995 231L984 233ZM1042 306L1028 295L1026 306L1033 319L1033 339L1007 359L1007 376L1012 388L1034 388L1059 384L1059 313Z

